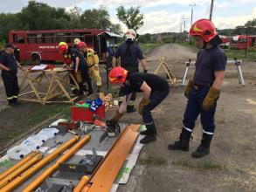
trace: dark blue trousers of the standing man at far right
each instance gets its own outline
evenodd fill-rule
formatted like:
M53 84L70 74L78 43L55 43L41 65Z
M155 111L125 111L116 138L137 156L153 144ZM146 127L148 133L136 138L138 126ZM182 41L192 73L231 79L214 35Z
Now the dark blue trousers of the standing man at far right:
M197 89L193 87L189 94L188 103L183 115L183 128L192 132L195 127L195 121L200 114L200 120L205 134L214 134L214 114L216 112L217 99L210 110L205 111L202 103L210 86L199 86Z

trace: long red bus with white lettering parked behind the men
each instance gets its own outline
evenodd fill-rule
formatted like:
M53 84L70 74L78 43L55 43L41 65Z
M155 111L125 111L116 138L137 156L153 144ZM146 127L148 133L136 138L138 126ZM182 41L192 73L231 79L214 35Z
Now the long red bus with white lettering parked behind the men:
M74 38L85 41L100 58L104 58L107 42L116 44L117 38L121 36L99 29L9 32L9 43L17 46L16 57L21 62L62 62L63 57L58 51L59 42L72 45Z

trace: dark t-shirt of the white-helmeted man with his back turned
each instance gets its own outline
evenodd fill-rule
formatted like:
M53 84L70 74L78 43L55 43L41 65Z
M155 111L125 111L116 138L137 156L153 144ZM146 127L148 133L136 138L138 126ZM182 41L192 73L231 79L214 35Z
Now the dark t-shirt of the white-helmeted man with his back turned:
M142 60L144 56L139 45L134 42L125 42L114 52L114 58L121 58L121 67L129 72L138 72L138 59Z

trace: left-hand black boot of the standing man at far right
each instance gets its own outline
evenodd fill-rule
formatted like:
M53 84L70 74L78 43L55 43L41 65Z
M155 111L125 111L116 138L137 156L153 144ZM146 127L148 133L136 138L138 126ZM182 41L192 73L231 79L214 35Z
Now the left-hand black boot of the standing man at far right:
M179 141L175 141L174 144L170 144L168 148L170 150L189 151L190 137L191 137L191 132L183 128L182 133L180 134L180 137L179 137Z

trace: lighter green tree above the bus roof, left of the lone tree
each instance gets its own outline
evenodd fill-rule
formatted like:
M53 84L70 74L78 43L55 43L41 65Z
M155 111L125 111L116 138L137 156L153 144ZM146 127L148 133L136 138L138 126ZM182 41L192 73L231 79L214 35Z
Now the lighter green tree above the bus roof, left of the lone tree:
M93 29L107 30L111 26L109 13L104 7L85 10L81 15L81 23L83 27Z

